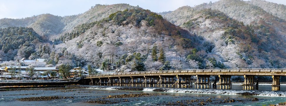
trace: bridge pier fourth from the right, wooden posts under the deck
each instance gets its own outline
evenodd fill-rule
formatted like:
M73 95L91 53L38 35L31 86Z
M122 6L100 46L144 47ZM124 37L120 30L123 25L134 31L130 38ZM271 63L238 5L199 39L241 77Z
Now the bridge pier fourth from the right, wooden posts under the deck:
M196 75L197 76L197 81L195 82L195 88L199 89L199 85L201 85L201 89L203 88L204 85L204 89L206 89L206 85L207 88L210 88L210 81L209 81L209 77L210 75Z

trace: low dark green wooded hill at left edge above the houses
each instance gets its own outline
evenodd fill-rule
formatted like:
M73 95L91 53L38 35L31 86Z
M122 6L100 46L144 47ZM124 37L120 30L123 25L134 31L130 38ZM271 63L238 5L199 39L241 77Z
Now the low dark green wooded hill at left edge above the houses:
M0 29L0 56L4 61L14 57L29 58L42 38L32 28L8 27ZM16 60L15 59L15 60Z

